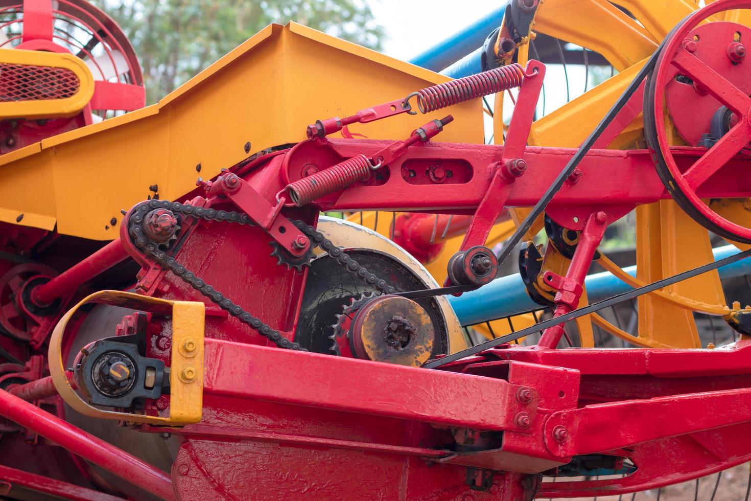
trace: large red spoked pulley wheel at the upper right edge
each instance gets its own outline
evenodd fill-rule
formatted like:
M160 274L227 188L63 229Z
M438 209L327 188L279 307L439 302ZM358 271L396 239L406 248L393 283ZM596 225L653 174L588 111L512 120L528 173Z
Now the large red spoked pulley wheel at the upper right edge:
M647 80L644 135L659 177L677 204L719 236L751 243L751 228L719 216L700 196L702 186L751 142L751 60L744 62L742 44L751 43L751 29L737 23L701 24L719 12L740 8L751 8L751 2L718 0L696 11L668 35ZM692 146L699 146L697 128L710 132L714 116L724 116L727 130L716 142L705 137L709 144L704 146L710 147L689 164L684 155L671 151L671 126L665 120L665 110ZM729 191L748 193L751 183L738 179L737 189Z

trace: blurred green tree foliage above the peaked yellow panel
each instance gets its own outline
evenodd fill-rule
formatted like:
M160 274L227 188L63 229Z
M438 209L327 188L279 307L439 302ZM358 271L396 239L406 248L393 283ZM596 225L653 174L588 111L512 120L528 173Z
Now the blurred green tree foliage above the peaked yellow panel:
M372 49L383 35L364 0L95 0L125 31L149 104L269 23L302 23Z

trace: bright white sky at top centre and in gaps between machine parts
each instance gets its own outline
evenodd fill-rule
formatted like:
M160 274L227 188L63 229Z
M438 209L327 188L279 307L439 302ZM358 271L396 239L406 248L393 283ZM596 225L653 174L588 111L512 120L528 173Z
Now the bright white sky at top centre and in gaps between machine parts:
M375 22L384 26L386 37L382 40L383 53L398 59L409 60L433 45L454 35L481 17L499 8L503 0L366 0ZM567 65L569 90L574 99L584 92L584 67ZM591 89L591 82L588 89ZM493 105L493 96L488 96ZM545 74L544 113L566 104L566 79L562 65L547 65ZM504 110L511 110L506 98ZM506 113L504 113L506 114ZM542 114L542 98L538 102L538 116ZM508 121L508 116L506 117ZM487 137L493 125L486 115Z

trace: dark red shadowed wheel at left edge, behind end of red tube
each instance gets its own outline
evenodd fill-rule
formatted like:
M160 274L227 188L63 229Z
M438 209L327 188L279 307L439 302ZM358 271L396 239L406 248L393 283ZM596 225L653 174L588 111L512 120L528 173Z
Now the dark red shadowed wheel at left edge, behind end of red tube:
M22 309L17 303L23 285L35 276L56 275L56 270L49 266L27 263L11 268L0 277L0 328L18 340L30 340L35 322L22 314Z

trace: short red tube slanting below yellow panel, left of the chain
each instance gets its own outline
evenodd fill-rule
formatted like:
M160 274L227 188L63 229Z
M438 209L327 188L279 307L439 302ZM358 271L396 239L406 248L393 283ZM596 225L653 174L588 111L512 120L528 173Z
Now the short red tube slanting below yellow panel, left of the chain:
M106 246L94 252L88 258L83 259L73 267L68 268L46 284L39 285L32 291L32 300L39 305L52 303L58 297L70 294L83 283L97 276L103 271L109 270L115 264L130 257L117 238Z

